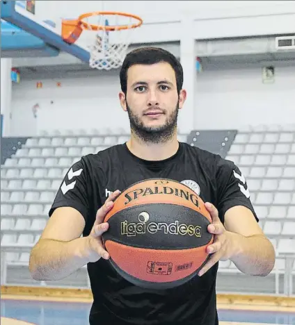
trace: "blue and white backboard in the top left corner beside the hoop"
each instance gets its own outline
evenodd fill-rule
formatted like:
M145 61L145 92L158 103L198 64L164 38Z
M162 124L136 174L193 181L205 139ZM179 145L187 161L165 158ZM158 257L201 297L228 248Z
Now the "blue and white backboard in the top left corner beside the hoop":
M10 35L11 30L14 29L14 35L22 33L19 40L24 42L29 40L29 49L36 49L39 47L46 49L40 51L40 56L56 56L59 51L65 51L82 60L85 63L89 62L90 53L86 47L81 47L79 44L68 44L63 41L61 37L61 23L52 22L50 20L43 21L38 19L35 15L36 2L38 1L1 1L1 36L3 36L5 26L6 35ZM34 38L29 38L33 35ZM10 46L16 46L17 42L10 41ZM1 40L1 49L7 51L9 44L3 43ZM9 53L9 52L8 52ZM24 55L28 55L24 53Z

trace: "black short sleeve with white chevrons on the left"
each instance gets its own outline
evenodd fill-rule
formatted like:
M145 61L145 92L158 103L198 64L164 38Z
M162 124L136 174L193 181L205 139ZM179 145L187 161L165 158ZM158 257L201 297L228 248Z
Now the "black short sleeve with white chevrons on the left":
M74 163L64 176L61 186L56 193L54 202L49 210L49 217L56 208L70 206L83 215L85 221L89 215L89 190L87 186L87 169L83 159Z

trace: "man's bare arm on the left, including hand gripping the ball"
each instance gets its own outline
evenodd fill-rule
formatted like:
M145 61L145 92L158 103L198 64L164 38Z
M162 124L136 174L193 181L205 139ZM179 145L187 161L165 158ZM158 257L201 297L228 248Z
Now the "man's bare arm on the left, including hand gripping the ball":
M113 207L119 191L113 192L97 211L95 224L89 236L79 238L85 220L79 211L70 207L57 208L31 251L29 269L35 280L59 280L69 276L89 262L108 259L101 235L109 225L104 223L106 213Z

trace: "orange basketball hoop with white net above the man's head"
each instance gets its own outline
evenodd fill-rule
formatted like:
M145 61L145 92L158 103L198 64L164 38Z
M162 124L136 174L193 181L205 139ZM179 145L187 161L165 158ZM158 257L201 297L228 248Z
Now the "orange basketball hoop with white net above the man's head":
M131 42L131 32L141 24L141 17L125 12L88 12L78 19L63 19L62 37L72 44L82 31L93 32L93 43L88 46L89 65L95 69L109 70L122 65Z

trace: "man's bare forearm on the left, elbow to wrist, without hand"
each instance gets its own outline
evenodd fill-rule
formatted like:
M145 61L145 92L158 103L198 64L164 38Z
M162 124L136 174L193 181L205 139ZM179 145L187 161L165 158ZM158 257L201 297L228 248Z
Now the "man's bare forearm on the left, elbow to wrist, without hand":
M87 238L70 242L43 239L31 251L29 269L35 280L60 280L86 265Z

